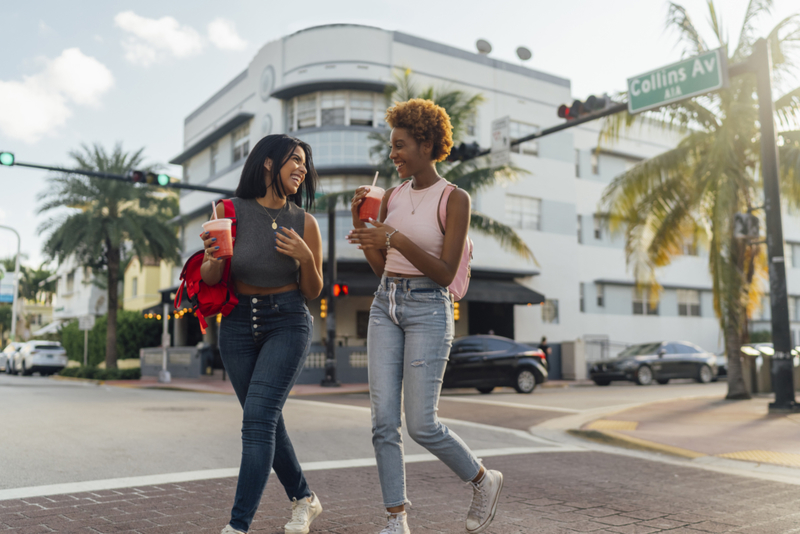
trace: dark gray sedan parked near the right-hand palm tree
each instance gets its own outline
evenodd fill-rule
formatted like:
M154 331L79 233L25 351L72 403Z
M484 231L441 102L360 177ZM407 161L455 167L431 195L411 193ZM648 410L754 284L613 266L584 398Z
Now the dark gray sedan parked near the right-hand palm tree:
M614 380L632 380L640 386L666 384L673 378L694 378L707 384L717 376L717 356L686 341L656 341L633 345L613 360L589 370L598 386Z

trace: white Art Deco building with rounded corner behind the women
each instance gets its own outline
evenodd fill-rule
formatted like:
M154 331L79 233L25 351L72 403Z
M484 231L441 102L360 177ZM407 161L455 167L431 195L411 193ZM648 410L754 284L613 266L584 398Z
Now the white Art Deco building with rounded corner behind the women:
M370 183L377 163L370 134L386 128L385 91L406 69L420 86L484 96L464 139L482 147L490 145L494 119L510 117L512 137L521 137L558 124L558 106L572 101L565 78L402 32L320 26L267 43L241 74L186 117L184 151L172 163L183 165L184 182L233 190L250 147L265 135L287 133L312 146L323 192ZM615 176L677 139L645 128L598 151L598 129L597 122L588 123L516 147L513 164L527 174L474 195L473 207L514 227L537 263L471 232L474 276L459 305L457 335L492 330L519 341L584 339L606 349L611 342L612 350L615 343L681 339L719 350L702 247L687 243L685 254L660 271L664 290L654 307L646 292L636 291L623 238L610 233L599 207ZM182 192L184 260L202 247L200 225L218 198ZM327 214L317 216L327 253ZM344 240L350 227L349 211L338 212L339 279L351 291L337 301L337 341L363 346L378 280ZM786 230L787 236L792 232ZM319 300L309 307L320 342L325 324Z

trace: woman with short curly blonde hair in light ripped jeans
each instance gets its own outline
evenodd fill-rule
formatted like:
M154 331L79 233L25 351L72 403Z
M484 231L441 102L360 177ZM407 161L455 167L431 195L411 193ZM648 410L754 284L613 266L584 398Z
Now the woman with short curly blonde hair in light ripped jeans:
M372 228L359 220L369 189L359 188L351 203L354 229L349 234L381 278L367 336L372 443L388 519L381 534L410 532L401 399L411 438L472 485L466 528L477 534L494 519L503 475L484 469L436 415L454 331L448 286L466 245L470 197L436 172L436 162L453 147L453 127L443 108L422 99L395 103L386 122L392 127L389 158L407 181L386 191L380 220L370 221ZM447 203L444 226L440 202Z

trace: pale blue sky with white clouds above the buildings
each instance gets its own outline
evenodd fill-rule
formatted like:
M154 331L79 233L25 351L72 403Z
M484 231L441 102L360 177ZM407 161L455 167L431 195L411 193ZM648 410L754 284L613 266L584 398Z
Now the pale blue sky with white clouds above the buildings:
M683 0L710 46L705 0ZM748 0L717 0L735 42ZM183 148L183 119L244 70L265 43L320 24L355 23L400 30L524 64L572 81L576 98L625 89L628 77L681 58L665 31L663 0L275 0L211 2L85 0L13 2L0 33L0 150L21 162L69 165L83 144L144 147L164 164ZM760 35L800 12L797 0L774 0ZM533 52L520 61L519 46ZM559 119L553 116L553 124ZM548 126L548 125L543 125ZM47 173L0 168L0 225L22 236L24 263L46 260L37 194ZM0 229L0 257L16 252Z

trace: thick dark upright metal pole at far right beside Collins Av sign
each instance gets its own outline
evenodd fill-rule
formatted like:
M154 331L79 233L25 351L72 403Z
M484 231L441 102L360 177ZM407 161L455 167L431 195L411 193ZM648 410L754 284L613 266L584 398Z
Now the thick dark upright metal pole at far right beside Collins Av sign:
M789 299L786 291L786 262L781 224L781 196L778 178L778 144L772 102L772 55L765 39L756 41L750 57L758 88L758 120L761 123L761 172L764 181L764 210L767 219L770 308L772 311L772 389L775 402L770 412L795 412L792 339L789 329Z

